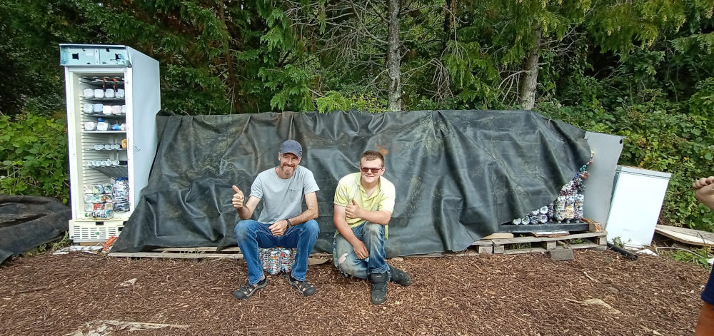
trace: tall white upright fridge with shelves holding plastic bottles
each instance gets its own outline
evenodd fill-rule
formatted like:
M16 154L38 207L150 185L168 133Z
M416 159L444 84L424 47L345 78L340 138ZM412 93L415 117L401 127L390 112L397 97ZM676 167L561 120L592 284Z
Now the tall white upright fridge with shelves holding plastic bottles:
M128 46L60 44L75 243L118 236L149 180L159 62Z

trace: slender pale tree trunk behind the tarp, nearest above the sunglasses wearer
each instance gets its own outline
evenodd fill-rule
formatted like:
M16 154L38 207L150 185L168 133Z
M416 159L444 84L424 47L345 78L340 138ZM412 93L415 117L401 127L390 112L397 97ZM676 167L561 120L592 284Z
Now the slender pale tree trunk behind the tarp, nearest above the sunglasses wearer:
M389 111L401 111L401 57L399 55L399 0L388 0L387 74Z

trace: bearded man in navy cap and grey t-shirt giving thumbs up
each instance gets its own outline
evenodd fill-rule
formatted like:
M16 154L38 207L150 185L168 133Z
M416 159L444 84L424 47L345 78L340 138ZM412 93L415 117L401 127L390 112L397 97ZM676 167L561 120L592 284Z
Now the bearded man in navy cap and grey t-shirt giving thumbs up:
M299 166L303 156L303 147L294 140L283 142L278 152L280 166L264 170L258 174L251 186L251 194L245 200L243 191L236 185L233 190L233 207L238 211L241 221L236 225L236 240L243 258L248 265L248 282L233 292L238 299L251 297L256 290L265 287L258 248L297 248L288 282L298 289L301 295L313 295L315 286L306 280L308 256L317 235L320 233L317 218L317 183L313 173ZM300 191L299 193L296 191ZM303 197L304 196L304 197ZM303 198L307 210L302 210ZM258 220L252 220L253 211L263 200L263 210Z

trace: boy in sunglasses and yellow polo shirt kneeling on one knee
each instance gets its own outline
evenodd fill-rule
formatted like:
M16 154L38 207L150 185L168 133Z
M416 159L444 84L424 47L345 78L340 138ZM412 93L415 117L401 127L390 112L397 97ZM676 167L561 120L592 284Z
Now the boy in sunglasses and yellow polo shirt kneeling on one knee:
M343 274L372 282L372 303L379 305L387 298L388 281L408 286L411 278L384 260L384 239L396 197L394 185L382 176L384 157L366 151L359 168L359 173L341 178L335 190L334 259Z

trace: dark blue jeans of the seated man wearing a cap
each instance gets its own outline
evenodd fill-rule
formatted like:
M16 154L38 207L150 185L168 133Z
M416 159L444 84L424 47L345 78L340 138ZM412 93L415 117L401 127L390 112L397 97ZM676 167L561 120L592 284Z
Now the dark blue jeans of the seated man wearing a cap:
M320 233L316 220L308 220L300 225L292 226L285 234L276 237L268 227L270 224L260 223L257 220L241 220L236 225L236 241L241 248L243 258L248 264L248 283L255 285L263 278L263 265L258 258L258 248L296 248L297 255L293 264L292 277L298 281L305 281L308 273L308 256L312 252Z

